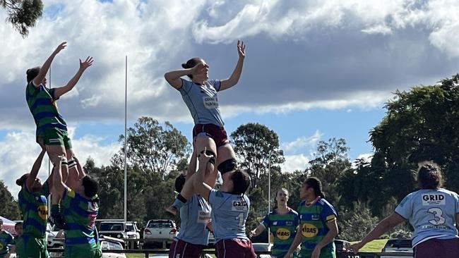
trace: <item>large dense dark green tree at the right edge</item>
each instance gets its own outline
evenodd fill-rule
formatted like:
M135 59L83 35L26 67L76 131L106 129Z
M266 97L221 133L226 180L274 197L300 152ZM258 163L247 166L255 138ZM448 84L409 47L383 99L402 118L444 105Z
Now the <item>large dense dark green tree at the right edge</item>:
M446 187L459 190L458 82L459 74L439 85L395 92L386 116L370 132L376 158L371 166L384 171L386 192L399 201L416 188L419 161L438 163Z

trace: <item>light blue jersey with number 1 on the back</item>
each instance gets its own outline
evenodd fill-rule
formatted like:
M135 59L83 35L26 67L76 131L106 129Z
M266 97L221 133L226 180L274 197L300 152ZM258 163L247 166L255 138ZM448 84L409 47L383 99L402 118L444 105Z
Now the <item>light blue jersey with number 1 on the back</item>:
M215 242L224 239L246 239L246 220L249 216L250 200L247 195L232 195L211 190L212 226Z

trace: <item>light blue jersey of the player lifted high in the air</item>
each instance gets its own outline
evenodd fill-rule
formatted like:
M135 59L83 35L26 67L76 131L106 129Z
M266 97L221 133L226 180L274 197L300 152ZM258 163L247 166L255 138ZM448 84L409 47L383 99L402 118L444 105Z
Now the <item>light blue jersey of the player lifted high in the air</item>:
M195 125L213 123L223 127L224 123L218 109L218 90L220 90L220 80L205 80L204 85L198 85L181 79L179 91L193 116Z

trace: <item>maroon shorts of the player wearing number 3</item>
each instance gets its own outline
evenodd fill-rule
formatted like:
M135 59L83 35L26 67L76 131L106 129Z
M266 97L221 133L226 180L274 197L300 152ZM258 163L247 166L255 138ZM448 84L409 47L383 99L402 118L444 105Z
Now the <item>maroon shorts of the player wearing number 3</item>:
M413 248L415 258L459 257L459 238L429 239Z

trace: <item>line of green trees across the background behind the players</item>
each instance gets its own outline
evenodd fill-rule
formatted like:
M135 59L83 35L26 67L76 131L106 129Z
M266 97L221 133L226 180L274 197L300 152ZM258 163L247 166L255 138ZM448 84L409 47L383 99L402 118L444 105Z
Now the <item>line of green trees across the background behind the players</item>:
M268 212L268 195L275 207L275 191L290 191L289 205L297 209L299 188L307 176L323 183L327 199L338 211L340 238L362 238L395 205L417 189L417 163L433 160L441 165L446 188L459 191L459 75L444 79L439 85L413 87L394 93L386 103L387 113L369 132L374 147L371 159L351 161L345 139L330 138L318 142L316 152L301 171L282 171L285 161L278 135L266 125L240 125L232 134L232 142L240 168L249 171L251 212L247 228L258 225ZM164 207L174 199L174 179L184 173L191 145L171 123L160 124L142 117L129 128L127 140L128 219L145 223L148 219L172 219ZM124 142L124 136L119 139ZM124 147L112 157L108 166L95 167L88 159L85 170L100 183L100 219L123 217ZM270 169L270 173L268 173ZM268 174L271 191L268 193ZM5 205L17 207L0 184ZM11 196L11 195L10 195ZM16 206L15 206L16 205ZM15 219L16 209L0 211ZM9 208L8 208L9 209ZM175 218L177 219L177 218ZM397 232L407 233L408 226ZM265 235L258 237L259 240Z

